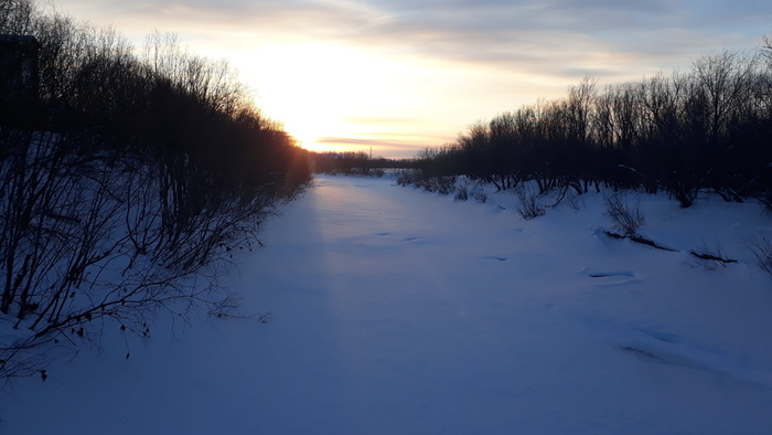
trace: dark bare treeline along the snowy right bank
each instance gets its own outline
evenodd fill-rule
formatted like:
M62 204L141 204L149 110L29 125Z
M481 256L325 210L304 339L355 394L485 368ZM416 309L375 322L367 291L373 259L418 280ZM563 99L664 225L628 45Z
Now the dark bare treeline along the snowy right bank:
M540 193L601 183L664 190L689 206L700 190L772 200L772 44L706 55L686 72L599 88L586 77L561 99L479 121L423 151L419 178L465 174Z

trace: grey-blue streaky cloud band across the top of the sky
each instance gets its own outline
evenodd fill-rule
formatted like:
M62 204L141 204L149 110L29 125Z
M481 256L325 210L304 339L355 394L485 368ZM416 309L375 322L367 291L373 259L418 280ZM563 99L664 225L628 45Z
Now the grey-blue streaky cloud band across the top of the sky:
M688 63L714 46L752 46L772 31L772 11L761 1L100 0L94 4L66 0L64 4L101 10L114 20L135 20L150 26L146 32L152 28L190 32L202 42L228 36L250 44L329 41L448 67L478 65L561 77L589 72L612 78L639 65ZM626 60L630 66L588 59L597 53Z

